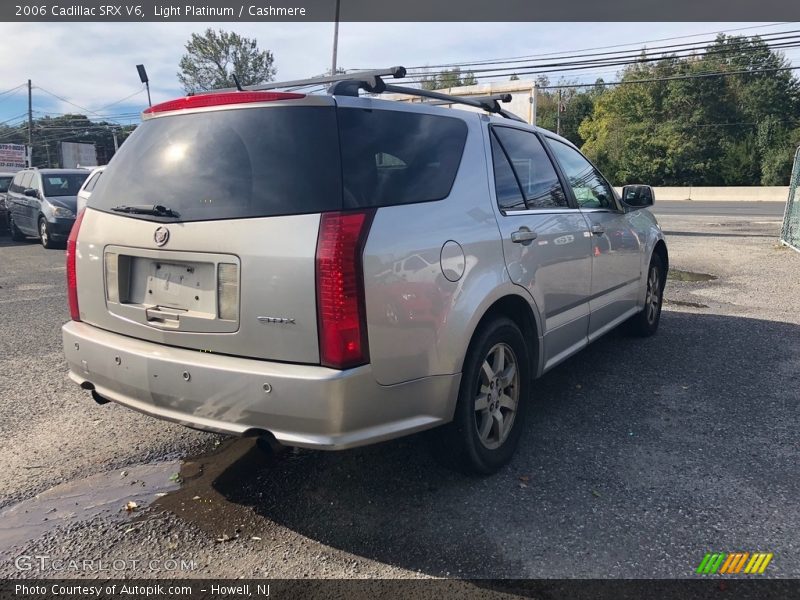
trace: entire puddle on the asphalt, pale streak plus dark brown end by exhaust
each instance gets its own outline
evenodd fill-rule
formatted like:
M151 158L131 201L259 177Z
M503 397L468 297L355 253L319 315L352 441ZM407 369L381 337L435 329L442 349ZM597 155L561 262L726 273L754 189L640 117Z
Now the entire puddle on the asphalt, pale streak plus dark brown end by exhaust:
M270 464L272 457L254 438L237 438L183 461L135 465L57 485L0 509L0 553L56 527L95 517L135 527L160 511L198 526L216 542L255 535L261 520L226 494Z

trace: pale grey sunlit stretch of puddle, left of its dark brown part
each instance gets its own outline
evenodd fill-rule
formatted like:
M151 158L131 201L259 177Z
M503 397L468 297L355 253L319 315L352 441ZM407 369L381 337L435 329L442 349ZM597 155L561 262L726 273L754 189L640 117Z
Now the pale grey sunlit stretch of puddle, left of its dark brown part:
M0 510L0 552L62 525L98 516L131 519L157 494L178 489L180 468L179 461L168 461L98 473L6 507Z

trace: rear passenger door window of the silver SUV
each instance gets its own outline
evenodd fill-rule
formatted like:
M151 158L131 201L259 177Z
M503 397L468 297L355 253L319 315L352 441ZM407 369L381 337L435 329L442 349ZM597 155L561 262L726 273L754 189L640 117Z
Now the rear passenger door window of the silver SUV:
M510 127L493 127L525 196L526 208L569 208L556 170L535 134Z

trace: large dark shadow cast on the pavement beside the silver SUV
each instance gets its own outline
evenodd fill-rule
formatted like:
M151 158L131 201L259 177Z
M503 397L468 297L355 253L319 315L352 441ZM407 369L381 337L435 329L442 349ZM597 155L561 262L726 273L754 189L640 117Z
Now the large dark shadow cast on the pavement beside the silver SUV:
M417 435L290 453L215 487L312 540L434 576L686 577L728 548L775 552L798 576L799 339L794 324L665 311L657 336L612 333L538 380L494 476L440 466Z

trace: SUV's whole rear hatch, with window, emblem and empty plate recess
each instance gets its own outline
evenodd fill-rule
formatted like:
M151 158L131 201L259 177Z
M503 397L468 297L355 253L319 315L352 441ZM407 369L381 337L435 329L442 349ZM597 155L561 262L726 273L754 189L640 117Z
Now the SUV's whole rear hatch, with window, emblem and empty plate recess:
M171 346L318 363L320 214L342 209L334 100L195 98L154 107L94 188L77 241L80 318Z

